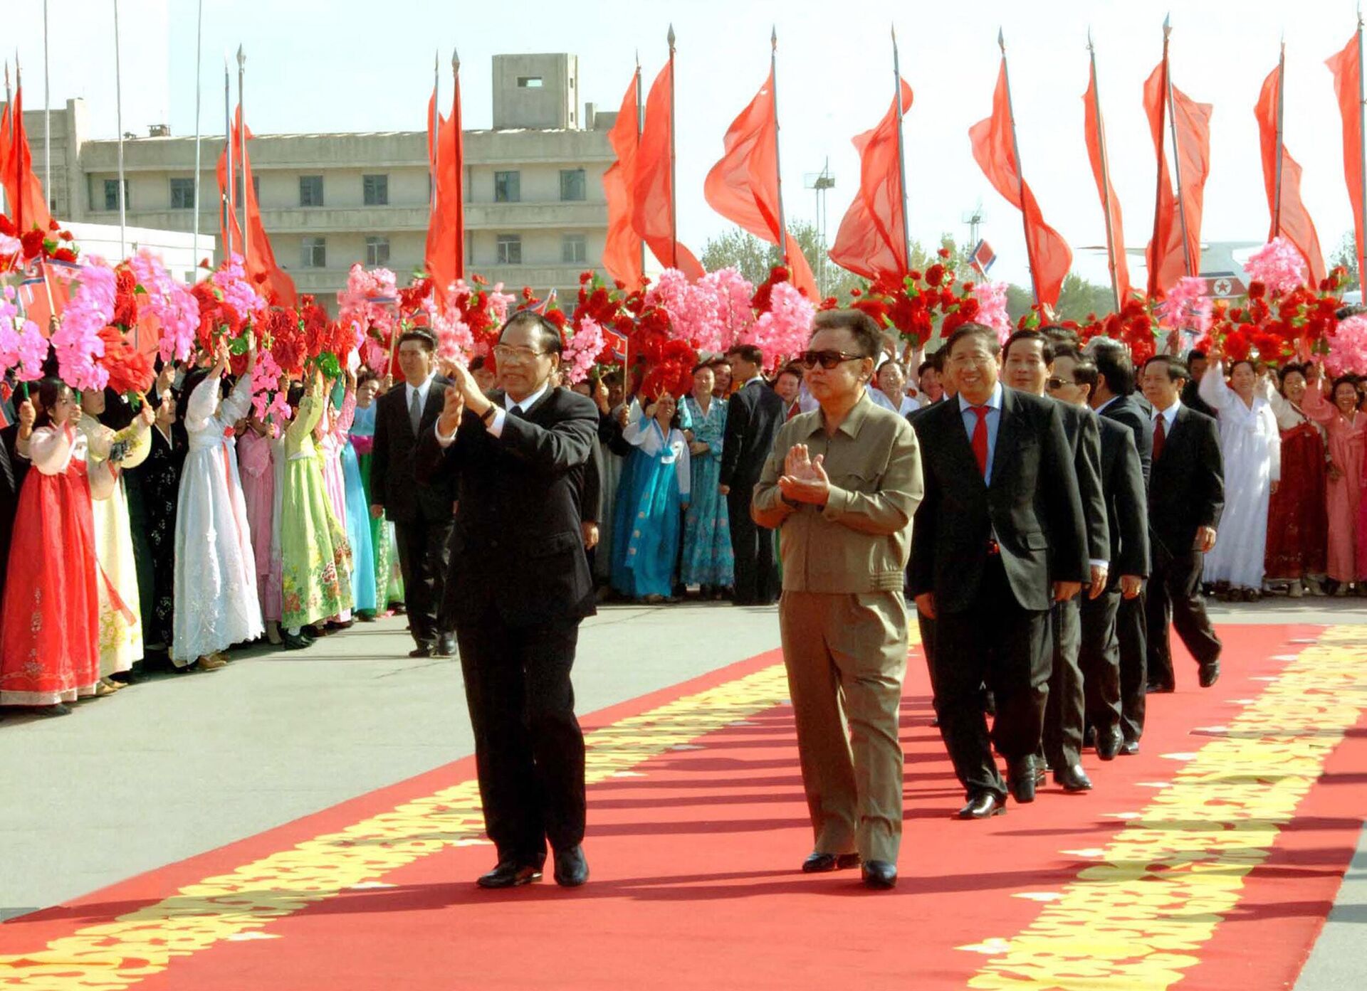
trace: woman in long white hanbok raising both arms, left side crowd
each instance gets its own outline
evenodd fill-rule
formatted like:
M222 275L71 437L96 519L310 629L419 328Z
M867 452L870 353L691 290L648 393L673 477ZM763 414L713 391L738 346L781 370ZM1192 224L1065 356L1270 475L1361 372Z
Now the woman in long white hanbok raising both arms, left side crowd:
M256 345L247 352L246 371L220 401L227 367L227 343L220 343L213 369L206 375L191 373L182 400L190 450L176 505L171 659L178 667L195 661L206 670L221 667L227 663L224 650L264 632L256 554L232 438L232 425L252 407Z

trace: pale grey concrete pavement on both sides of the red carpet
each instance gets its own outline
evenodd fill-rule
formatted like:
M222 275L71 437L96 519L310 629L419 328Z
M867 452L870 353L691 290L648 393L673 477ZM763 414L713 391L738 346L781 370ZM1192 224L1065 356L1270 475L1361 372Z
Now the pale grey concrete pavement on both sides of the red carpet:
M1364 622L1363 599L1213 605L1217 622ZM249 651L63 719L0 719L0 919L328 808L472 751L454 659L413 661L402 620L309 651ZM772 609L612 607L584 625L578 708L778 646ZM1367 833L1297 991L1364 986Z

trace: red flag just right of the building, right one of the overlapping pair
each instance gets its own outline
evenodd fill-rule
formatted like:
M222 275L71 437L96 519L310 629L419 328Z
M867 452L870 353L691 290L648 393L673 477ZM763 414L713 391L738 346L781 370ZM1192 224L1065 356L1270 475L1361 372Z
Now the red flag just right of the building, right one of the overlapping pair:
M674 268L689 281L703 277L703 265L674 238L674 179L670 131L674 127L673 63L655 76L645 98L645 130L636 147L632 169L632 227L651 246L666 268Z

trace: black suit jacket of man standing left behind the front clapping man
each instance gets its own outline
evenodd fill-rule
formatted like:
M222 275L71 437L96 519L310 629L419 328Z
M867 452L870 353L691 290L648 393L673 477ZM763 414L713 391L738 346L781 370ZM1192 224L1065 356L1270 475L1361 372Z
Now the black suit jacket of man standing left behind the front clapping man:
M418 437L432 433L446 403L451 379L440 375L428 388L417 435L409 420L409 389L399 382L376 401L375 444L370 449L370 498L384 504L395 523L436 523L451 519L451 489L444 482L424 485L413 471Z

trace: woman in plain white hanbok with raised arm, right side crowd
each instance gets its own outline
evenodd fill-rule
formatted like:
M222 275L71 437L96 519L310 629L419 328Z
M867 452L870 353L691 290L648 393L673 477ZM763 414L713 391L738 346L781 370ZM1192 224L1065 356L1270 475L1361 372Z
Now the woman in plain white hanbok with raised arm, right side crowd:
M1200 379L1200 397L1219 414L1219 450L1225 460L1225 512L1219 536L1206 554L1203 581L1230 599L1258 599L1267 551L1267 501L1281 479L1281 433L1271 405L1258 393L1258 366L1234 362L1225 382L1219 355Z

